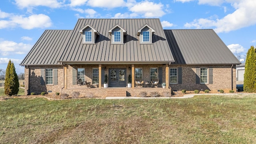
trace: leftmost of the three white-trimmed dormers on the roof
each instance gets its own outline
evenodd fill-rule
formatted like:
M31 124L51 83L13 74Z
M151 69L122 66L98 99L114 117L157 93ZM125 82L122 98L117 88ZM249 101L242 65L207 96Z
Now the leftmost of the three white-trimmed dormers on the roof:
M82 27L79 32L83 36L83 44L95 44L96 37L100 35L98 31L89 24Z

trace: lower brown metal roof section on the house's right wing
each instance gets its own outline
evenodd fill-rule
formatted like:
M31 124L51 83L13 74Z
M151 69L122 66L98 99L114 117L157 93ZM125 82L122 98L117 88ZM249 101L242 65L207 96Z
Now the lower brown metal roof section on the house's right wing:
M214 30L164 30L172 64L240 64Z

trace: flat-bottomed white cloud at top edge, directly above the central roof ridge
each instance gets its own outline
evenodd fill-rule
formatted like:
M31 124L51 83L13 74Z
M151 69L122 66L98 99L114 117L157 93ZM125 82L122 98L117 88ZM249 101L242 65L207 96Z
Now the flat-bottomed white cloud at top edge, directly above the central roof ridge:
M92 7L116 8L126 6L124 0L88 0L87 4Z

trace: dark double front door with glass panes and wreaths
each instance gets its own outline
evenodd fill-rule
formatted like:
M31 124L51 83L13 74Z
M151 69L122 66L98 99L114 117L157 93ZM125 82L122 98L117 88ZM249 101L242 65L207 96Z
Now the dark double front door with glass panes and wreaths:
M110 75L109 87L126 87L126 69L110 68L109 75Z

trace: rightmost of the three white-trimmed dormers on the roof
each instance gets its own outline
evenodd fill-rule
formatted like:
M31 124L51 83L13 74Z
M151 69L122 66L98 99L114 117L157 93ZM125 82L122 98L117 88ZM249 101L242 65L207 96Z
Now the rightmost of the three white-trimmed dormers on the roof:
M137 36L140 37L140 44L152 44L152 36L155 30L145 24L137 31Z

